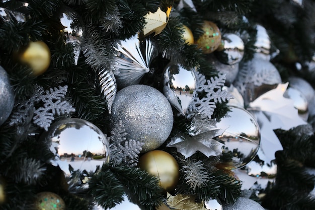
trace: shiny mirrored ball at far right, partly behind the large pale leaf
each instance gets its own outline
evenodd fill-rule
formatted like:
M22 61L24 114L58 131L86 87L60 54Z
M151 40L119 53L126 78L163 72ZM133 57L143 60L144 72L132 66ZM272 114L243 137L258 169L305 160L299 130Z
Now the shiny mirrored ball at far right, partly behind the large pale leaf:
M286 89L283 96L293 101L293 106L297 109L298 116L300 116L304 121L307 121L308 102L305 96L299 90L291 87Z

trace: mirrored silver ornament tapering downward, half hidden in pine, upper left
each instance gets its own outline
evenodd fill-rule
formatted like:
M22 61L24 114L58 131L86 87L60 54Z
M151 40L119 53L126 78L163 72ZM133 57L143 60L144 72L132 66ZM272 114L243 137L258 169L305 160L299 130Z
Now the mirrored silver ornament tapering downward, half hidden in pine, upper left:
M73 46L74 64L77 64L78 56L81 51L80 37L83 34L83 23L81 23L77 13L67 8L64 13L61 14L60 23L64 27L63 33L66 37L66 44Z

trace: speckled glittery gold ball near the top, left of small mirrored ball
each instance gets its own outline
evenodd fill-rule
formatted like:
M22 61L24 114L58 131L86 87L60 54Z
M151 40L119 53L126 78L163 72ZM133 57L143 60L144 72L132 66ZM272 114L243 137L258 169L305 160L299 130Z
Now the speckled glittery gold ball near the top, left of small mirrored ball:
M204 21L202 30L204 33L196 41L196 44L202 49L203 53L209 54L220 46L221 32L211 21Z

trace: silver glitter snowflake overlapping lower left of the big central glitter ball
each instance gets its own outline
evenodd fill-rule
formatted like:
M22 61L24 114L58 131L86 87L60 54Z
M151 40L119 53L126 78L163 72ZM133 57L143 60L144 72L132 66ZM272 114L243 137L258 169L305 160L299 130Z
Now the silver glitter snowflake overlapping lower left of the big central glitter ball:
M122 121L118 122L111 130L110 149L111 162L114 165L125 163L129 167L136 166L138 154L142 151L144 143L126 138L126 129Z

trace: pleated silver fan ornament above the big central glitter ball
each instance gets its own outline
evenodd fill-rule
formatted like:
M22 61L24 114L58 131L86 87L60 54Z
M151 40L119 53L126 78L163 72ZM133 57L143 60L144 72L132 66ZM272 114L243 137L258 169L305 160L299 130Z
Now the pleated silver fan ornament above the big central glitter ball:
M139 84L144 74L150 71L149 64L156 55L154 45L149 39L138 39L134 35L122 40L114 47L115 64L113 73L119 89Z

